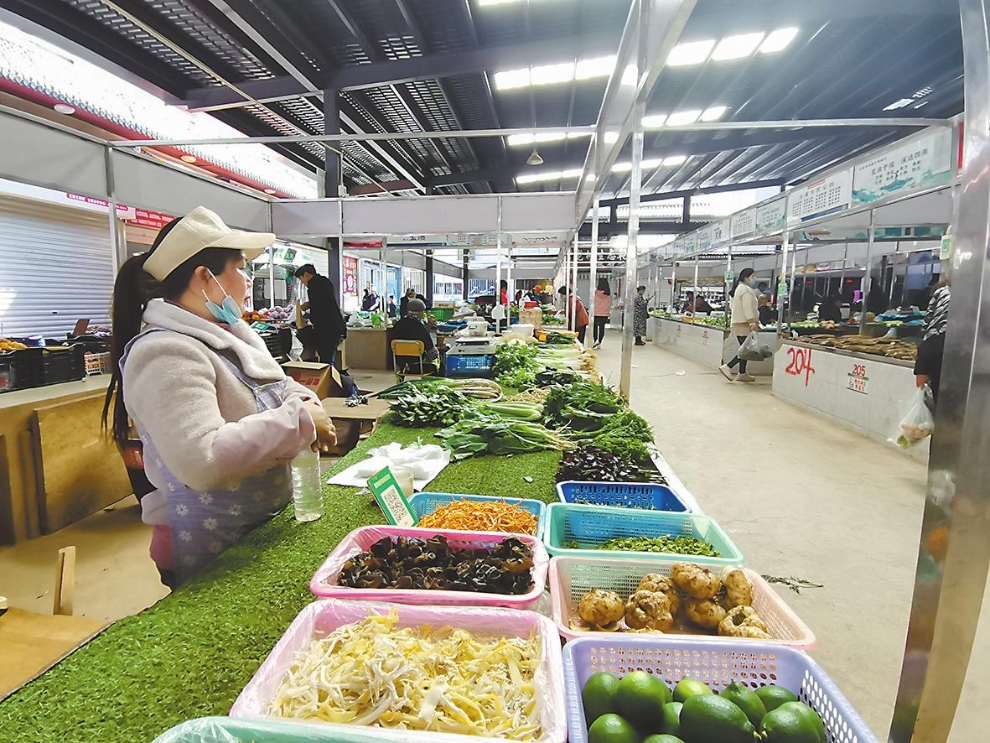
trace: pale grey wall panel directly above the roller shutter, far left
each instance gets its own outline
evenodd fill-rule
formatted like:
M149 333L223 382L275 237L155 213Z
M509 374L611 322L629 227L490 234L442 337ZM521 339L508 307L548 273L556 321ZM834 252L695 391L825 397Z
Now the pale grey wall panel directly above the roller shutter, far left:
M57 191L106 198L104 147L0 114L0 175Z

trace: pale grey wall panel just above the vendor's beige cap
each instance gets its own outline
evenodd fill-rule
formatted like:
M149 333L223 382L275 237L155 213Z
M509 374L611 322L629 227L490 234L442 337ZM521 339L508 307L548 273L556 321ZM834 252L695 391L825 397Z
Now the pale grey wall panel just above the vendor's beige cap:
M127 152L112 153L114 195L129 206L185 214L205 206L227 224L269 231L269 202Z

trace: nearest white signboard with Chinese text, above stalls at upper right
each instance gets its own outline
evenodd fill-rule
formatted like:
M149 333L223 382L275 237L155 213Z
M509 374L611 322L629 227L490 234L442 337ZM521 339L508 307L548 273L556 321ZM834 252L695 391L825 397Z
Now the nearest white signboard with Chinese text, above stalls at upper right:
M857 165L854 204L871 204L903 191L931 188L952 179L952 132L925 132Z

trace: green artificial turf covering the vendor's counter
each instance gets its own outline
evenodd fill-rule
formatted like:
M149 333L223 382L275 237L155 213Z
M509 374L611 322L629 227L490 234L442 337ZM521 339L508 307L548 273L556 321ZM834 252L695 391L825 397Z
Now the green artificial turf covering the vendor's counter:
M417 438L434 443L433 433L383 424L335 471L373 446ZM451 463L430 490L550 502L559 462L557 452L468 459ZM0 702L0 738L135 743L184 720L226 714L292 619L314 600L309 580L327 554L354 528L382 523L372 497L356 492L326 486L326 513L310 523L296 522L287 508L194 581L113 624Z

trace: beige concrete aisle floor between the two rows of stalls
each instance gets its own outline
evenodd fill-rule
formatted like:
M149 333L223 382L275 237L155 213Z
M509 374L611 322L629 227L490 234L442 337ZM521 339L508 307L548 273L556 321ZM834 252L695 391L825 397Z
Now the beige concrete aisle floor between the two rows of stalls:
M616 384L620 344L611 332L599 351L602 374ZM778 590L818 636L815 658L873 730L886 735L926 467L777 400L769 378L730 384L652 343L634 351L633 409L653 425L664 456L748 565L824 584L800 595ZM986 699L988 634L981 630L977 640L953 728L959 743L982 739L975 700Z

